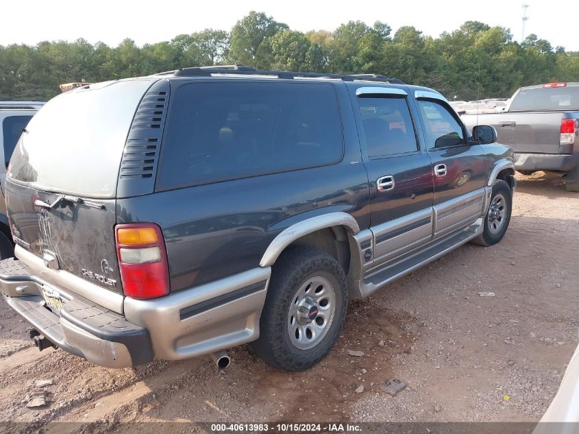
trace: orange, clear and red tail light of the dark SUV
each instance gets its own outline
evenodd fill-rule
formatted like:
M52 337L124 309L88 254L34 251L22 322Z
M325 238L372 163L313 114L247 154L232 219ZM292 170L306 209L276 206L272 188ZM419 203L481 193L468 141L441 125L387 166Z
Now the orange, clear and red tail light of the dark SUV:
M115 234L125 296L166 296L169 264L161 228L153 223L119 224Z

